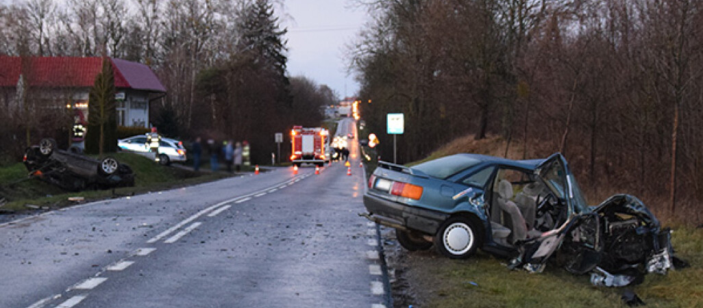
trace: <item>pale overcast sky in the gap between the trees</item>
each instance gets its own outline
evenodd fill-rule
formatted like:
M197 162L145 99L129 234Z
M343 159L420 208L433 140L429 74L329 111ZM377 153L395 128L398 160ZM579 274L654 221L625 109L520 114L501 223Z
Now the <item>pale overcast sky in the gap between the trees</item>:
M354 41L366 22L366 11L353 0L287 0L282 27L288 27L288 72L326 84L340 98L359 91L344 48ZM345 87L346 85L346 87ZM346 88L346 91L345 91Z

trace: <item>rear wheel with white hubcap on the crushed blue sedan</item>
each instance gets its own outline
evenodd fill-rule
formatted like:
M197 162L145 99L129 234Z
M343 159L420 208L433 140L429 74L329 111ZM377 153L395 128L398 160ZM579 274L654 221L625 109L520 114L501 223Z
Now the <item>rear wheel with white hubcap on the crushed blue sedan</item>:
M478 225L468 217L446 220L434 235L434 246L451 259L466 259L476 253L481 242Z

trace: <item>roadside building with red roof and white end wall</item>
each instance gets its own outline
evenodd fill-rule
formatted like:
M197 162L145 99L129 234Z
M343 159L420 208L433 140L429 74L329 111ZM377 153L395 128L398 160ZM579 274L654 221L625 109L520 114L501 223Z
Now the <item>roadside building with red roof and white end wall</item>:
M163 98L166 88L146 65L109 60L115 77L117 125L148 128L149 104ZM103 58L99 57L0 55L0 111L21 109L22 95L39 93L42 107L71 108L75 124L85 125L82 122L88 119L89 93L102 64Z

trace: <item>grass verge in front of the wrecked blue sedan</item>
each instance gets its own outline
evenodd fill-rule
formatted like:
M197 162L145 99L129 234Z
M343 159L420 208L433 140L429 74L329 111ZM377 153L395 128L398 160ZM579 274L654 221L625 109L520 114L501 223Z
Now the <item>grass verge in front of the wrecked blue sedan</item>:
M703 307L703 229L681 227L673 233L673 246L691 267L647 274L644 283L628 288L647 307ZM557 265L529 274L509 271L501 264L505 260L485 253L469 260L434 257L413 262L420 266L411 269L413 276L424 278L411 281L426 289L423 307L624 307L622 288L592 286L590 276L570 274Z

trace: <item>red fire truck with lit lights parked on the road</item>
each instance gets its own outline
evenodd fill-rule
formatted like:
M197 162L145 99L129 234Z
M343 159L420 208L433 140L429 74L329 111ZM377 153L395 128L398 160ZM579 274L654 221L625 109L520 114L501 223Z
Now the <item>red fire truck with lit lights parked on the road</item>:
M304 128L293 126L290 130L291 153L290 161L300 166L303 163L314 163L323 166L330 158L325 155L325 145L329 131L321 128Z

